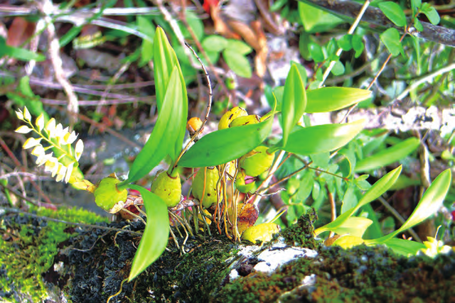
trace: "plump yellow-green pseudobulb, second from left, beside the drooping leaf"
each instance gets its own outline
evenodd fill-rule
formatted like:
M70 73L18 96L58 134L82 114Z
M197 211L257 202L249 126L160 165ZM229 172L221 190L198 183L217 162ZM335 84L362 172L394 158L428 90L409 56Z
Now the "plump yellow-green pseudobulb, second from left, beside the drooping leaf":
M171 177L167 172L161 172L151 184L150 191L163 199L168 207L176 206L182 195L180 176L176 173L175 177Z

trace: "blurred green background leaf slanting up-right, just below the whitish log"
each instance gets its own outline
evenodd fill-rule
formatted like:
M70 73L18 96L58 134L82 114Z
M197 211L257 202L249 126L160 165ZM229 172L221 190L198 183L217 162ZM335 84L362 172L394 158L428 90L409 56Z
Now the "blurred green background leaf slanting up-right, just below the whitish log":
M370 155L367 158L358 161L357 165L355 165L355 172L375 170L379 167L384 167L393 162L397 162L416 150L419 145L419 139L408 138L397 145L381 150L379 153Z

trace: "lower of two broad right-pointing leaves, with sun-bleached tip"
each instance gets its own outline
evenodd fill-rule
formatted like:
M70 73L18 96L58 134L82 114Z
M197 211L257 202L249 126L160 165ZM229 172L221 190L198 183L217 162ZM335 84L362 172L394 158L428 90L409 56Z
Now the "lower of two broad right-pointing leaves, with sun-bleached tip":
M300 128L289 135L287 144L282 149L299 155L336 150L360 133L364 124L365 120L358 120L345 124L324 124Z

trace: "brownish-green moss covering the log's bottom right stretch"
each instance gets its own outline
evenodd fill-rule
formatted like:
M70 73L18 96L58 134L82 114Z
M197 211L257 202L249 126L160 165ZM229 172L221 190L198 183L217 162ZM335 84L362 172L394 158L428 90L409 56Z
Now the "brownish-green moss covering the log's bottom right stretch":
M314 284L302 285L313 274ZM240 277L215 302L449 302L454 282L453 252L405 258L380 246L329 247L272 275Z

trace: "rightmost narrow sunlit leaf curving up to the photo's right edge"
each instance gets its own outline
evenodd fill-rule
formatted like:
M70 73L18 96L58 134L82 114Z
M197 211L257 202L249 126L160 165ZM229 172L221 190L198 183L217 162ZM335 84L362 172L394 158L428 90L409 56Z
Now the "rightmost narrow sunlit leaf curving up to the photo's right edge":
M419 204L417 204L416 208L412 212L411 216L407 219L405 224L403 224L396 231L389 233L387 236L369 240L368 244L373 245L375 243L384 243L390 238L395 237L398 233L402 233L403 231L412 228L412 226L420 224L429 216L432 216L442 206L444 198L446 197L447 192L449 192L450 186L451 171L448 169L444 170L444 172L441 172L441 174L428 187L427 192L424 193L422 199L420 199Z

